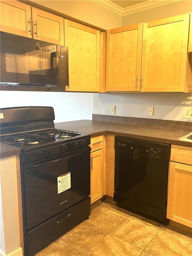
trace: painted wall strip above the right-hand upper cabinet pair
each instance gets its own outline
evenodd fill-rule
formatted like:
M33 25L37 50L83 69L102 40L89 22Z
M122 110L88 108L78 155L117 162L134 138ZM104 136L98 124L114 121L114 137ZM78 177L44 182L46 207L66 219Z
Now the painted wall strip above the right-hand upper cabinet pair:
M122 26L168 18L187 12L192 12L192 0L183 0L123 16Z

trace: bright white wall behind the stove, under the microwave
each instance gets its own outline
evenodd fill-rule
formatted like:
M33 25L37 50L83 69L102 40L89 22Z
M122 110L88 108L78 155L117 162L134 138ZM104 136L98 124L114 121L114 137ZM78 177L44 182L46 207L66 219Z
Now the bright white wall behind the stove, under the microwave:
M0 108L50 106L55 122L92 119L93 93L0 91Z

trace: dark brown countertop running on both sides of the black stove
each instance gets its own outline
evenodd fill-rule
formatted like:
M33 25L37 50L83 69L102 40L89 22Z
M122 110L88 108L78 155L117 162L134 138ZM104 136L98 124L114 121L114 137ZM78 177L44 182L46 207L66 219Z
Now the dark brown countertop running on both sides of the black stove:
M181 141L178 138L191 131L176 130L170 128L159 128L152 126L141 126L131 124L119 124L111 122L100 122L92 120L78 120L56 123L58 129L88 133L91 137L101 134L114 134L135 139L143 139L160 143L169 143L181 146L192 147L192 142ZM0 143L0 157L20 154L21 149L4 143Z

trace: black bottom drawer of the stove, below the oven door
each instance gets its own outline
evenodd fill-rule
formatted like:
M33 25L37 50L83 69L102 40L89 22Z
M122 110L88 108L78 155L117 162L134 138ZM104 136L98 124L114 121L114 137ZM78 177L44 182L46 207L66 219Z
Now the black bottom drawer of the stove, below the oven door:
M90 197L27 232L27 256L33 255L89 215Z

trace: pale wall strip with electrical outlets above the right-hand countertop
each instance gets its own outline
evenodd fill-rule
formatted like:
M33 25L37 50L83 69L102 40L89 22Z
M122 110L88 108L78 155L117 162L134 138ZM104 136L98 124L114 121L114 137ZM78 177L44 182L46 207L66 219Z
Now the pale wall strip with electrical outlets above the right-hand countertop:
M110 115L115 105L117 116L192 121L183 118L184 107L191 103L190 93L98 93L93 96L93 113ZM154 116L147 116L148 106L154 107Z

